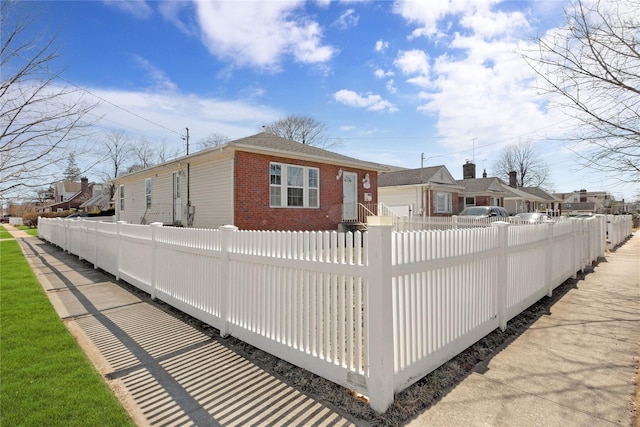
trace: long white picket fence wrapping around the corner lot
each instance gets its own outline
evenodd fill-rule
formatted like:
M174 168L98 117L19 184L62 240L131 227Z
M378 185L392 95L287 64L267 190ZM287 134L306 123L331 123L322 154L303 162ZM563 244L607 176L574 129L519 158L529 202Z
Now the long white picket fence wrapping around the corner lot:
M353 234L40 218L38 233L383 412L394 392L604 255L607 234L622 241L631 229L602 216Z

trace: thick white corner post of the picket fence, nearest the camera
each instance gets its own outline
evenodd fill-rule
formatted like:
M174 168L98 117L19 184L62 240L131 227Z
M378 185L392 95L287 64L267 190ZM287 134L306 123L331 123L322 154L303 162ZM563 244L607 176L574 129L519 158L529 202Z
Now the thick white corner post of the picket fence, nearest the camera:
M391 231L389 217L367 219L368 286L365 308L369 405L383 413L393 403L394 348Z

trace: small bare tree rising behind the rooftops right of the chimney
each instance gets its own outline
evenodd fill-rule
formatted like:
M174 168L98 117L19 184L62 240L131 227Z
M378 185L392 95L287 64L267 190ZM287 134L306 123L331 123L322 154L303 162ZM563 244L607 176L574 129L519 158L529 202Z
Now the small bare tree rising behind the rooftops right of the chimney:
M506 182L509 182L509 173L516 172L518 187L545 187L549 184L549 167L538 156L531 141L505 147L493 169L494 174Z

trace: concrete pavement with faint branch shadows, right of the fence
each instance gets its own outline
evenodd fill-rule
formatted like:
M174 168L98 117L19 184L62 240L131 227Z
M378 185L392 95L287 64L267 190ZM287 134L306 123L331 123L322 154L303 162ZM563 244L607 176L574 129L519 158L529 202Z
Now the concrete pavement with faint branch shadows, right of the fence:
M408 425L633 425L640 356L638 234L607 254L549 315Z

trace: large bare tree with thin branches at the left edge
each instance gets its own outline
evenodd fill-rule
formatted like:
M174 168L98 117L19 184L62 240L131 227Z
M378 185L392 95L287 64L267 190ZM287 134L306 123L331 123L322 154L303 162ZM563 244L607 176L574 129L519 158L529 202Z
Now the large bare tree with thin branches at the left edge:
M55 37L42 31L35 3L0 2L0 196L50 183L86 135L96 103L59 84ZM78 148L77 145L74 148Z

